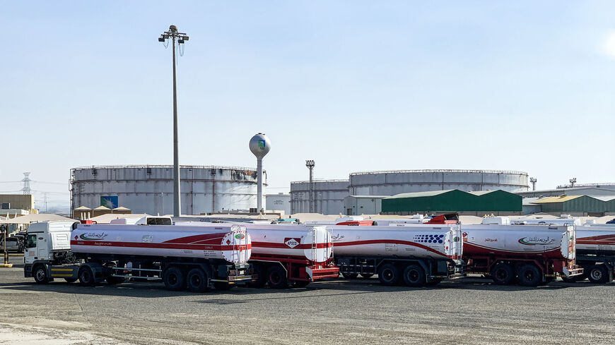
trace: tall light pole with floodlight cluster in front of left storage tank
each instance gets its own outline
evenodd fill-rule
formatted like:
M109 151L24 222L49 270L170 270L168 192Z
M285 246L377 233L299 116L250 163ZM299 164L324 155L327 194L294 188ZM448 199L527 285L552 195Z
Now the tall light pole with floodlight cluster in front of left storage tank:
M179 217L181 213L180 205L180 159L177 148L177 80L175 78L175 39L177 44L184 44L188 40L185 33L177 32L177 27L171 25L168 31L163 32L158 37L158 42L172 41L173 51L173 216ZM181 50L181 49L180 49Z

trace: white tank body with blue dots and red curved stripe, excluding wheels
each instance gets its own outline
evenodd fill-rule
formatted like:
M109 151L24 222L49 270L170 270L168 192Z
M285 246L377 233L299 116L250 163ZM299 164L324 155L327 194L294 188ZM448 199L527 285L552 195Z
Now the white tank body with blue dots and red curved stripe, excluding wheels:
M327 226L336 256L459 258L459 226Z

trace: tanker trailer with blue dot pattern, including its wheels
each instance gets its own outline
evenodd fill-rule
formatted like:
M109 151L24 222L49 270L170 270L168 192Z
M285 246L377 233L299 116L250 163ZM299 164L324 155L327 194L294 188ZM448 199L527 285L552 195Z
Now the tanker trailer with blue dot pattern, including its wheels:
M399 225L327 226L344 277L378 274L385 285L423 286L462 276L458 225Z

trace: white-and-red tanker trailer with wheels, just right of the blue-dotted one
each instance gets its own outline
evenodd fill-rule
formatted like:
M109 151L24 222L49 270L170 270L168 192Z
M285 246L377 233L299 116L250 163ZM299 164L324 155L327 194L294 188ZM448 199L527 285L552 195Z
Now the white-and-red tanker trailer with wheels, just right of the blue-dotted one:
M462 225L467 273L496 284L538 286L558 275L575 277L574 226Z

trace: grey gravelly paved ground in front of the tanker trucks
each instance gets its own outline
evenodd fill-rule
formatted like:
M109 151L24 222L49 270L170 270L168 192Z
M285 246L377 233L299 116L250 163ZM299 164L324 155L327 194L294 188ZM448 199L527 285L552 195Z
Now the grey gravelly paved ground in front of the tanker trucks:
M344 279L203 294L35 285L0 269L0 344L615 344L615 284L435 288Z

